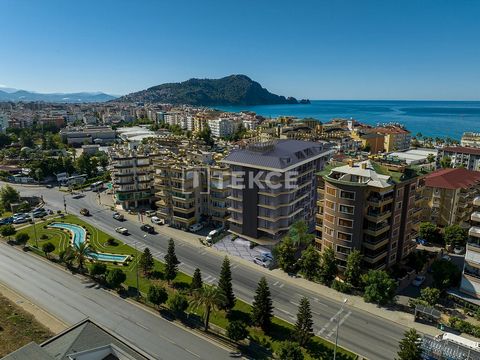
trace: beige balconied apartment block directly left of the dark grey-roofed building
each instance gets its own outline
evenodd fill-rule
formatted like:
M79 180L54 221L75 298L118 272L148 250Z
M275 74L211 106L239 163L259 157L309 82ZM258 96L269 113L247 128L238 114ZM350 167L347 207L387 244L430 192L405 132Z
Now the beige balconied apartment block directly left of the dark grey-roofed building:
M204 161L210 159L210 161ZM198 151L166 151L154 160L157 214L186 229L205 221L223 227L228 215L230 171Z

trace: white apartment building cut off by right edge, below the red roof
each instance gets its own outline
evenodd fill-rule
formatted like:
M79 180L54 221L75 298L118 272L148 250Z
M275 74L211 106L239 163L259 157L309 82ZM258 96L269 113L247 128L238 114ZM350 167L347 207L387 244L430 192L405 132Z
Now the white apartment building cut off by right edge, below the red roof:
M473 200L460 291L480 298L480 197Z

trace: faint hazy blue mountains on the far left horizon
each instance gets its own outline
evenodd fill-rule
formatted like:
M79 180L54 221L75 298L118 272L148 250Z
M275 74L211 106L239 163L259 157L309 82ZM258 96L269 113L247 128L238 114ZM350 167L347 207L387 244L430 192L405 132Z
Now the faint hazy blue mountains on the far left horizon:
M44 101L52 103L88 103L105 102L115 96L102 92L51 93L42 94L33 91L0 88L0 101Z

